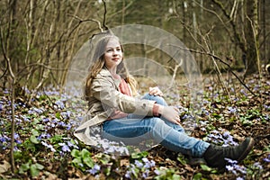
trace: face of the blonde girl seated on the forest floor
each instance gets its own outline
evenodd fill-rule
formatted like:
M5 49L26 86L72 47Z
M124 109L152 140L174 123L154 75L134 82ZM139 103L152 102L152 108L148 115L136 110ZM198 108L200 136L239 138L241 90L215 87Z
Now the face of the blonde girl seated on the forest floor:
M111 38L105 48L105 66L108 69L116 68L122 60L122 51L119 40Z

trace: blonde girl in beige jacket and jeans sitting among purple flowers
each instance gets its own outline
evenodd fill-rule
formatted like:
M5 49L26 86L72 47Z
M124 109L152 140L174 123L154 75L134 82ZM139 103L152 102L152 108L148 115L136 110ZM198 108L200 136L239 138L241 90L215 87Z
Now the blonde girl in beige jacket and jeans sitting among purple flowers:
M85 144L97 145L89 134L91 127L98 126L105 139L126 144L152 139L175 152L203 157L208 166L220 169L226 166L226 157L240 162L253 147L252 138L236 147L221 148L188 136L180 124L178 109L166 104L157 87L150 88L142 99L136 98L136 81L124 66L117 37L105 34L97 42L91 60L85 80L88 116L75 132Z

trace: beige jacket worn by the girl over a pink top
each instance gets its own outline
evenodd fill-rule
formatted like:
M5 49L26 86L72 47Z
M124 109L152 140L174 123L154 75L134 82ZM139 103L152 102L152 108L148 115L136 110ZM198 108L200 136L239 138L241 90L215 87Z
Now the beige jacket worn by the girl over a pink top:
M93 127L95 130L96 128L102 130L103 121L106 121L116 110L139 115L153 115L154 101L121 94L118 88L119 84L120 80L114 79L106 68L103 68L94 78L92 83L93 96L88 102L88 112L74 133L76 138L86 145L98 145L91 130Z

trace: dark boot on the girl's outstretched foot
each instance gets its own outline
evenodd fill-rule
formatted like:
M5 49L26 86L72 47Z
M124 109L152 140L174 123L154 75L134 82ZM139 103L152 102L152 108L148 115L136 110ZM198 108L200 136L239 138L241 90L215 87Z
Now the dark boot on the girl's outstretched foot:
M249 151L254 145L254 139L247 138L241 144L235 147L218 147L210 145L209 148L204 152L204 159L208 166L218 167L223 170L227 165L225 158L237 160L240 163L244 158L247 157Z

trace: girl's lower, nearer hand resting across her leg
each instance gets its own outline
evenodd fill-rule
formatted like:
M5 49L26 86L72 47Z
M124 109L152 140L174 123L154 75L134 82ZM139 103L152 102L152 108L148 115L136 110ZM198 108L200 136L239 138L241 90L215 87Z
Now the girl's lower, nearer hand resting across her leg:
M158 112L163 116L167 121L171 121L175 124L180 125L180 116L179 110L175 106L162 106L159 105Z

